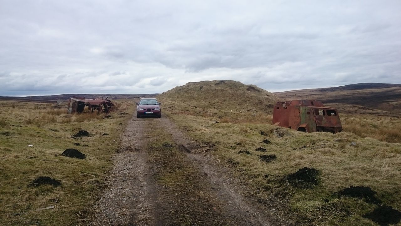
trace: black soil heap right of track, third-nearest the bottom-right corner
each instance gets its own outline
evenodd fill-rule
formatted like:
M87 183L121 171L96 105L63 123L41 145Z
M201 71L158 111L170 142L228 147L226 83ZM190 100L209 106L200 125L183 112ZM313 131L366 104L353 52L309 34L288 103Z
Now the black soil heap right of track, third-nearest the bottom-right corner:
M295 173L287 175L286 180L293 186L299 188L312 188L318 185L320 171L315 168L300 168Z

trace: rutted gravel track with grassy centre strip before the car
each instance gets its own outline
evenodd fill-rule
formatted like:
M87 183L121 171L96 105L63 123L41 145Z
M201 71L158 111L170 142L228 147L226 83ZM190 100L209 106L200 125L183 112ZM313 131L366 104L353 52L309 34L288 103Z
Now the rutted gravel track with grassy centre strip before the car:
M168 118L128 123L96 225L286 225Z

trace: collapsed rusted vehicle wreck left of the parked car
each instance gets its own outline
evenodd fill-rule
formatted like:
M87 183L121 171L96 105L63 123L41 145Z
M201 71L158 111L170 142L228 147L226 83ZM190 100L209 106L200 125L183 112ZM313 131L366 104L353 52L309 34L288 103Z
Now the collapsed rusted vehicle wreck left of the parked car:
M87 106L87 108L85 107ZM87 99L85 97L70 97L68 101L68 113L83 113L84 111L98 113L109 113L116 109L114 103L109 100L109 97L99 97L95 99Z

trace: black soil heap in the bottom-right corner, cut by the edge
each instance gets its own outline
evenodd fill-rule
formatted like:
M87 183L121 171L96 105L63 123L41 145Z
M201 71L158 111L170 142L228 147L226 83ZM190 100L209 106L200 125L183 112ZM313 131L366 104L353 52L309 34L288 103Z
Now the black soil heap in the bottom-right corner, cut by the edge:
M389 224L398 224L401 221L401 212L393 209L389 205L380 205L375 207L373 212L363 215L380 226L388 226Z

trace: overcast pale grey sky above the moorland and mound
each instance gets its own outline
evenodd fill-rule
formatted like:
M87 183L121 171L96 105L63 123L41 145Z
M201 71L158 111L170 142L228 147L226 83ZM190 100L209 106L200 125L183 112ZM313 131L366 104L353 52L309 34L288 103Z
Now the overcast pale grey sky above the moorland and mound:
M0 96L401 83L400 0L0 0Z

